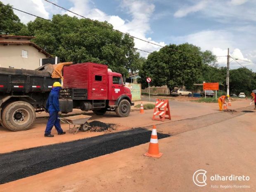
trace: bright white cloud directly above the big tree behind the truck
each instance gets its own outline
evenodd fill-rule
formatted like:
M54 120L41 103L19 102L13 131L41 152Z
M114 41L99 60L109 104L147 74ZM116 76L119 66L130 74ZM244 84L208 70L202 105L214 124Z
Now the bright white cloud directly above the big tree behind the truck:
M89 5L89 0L70 0L73 2L73 7L70 8L71 11L88 17L90 19L96 19L98 21L108 21L113 25L114 29L122 31L124 33L129 33L132 36L141 38L151 43L164 46L164 42L155 42L151 38L147 38L146 34L151 31L149 21L150 17L154 12L154 5L150 4L145 0L123 0L120 7L131 15L132 20L126 21L116 15L108 15L102 12L100 9L92 8ZM72 15L69 12L66 12L69 15ZM159 50L161 47L157 45L152 45L147 42L143 42L138 39L134 39L135 47L141 50L152 52L154 50ZM144 57L147 57L148 53L141 52L140 54Z

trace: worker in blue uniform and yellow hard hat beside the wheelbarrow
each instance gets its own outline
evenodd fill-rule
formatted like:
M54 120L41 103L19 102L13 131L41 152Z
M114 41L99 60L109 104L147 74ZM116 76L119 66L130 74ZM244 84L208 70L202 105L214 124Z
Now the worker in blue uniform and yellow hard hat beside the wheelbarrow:
M59 123L59 115L62 112L59 109L59 91L61 90L61 84L55 82L52 85L52 90L46 102L46 112L49 112L49 119L45 129L45 137L54 137L51 135L52 127L55 126L58 135L64 135L66 132L62 130Z

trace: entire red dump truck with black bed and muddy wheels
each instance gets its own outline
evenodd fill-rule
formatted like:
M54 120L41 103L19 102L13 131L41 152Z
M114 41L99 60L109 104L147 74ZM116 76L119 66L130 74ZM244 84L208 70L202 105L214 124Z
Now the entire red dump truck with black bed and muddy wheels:
M46 101L55 81L48 71L0 67L0 123L13 130L27 130L36 119L36 112L45 111ZM132 95L120 73L95 63L73 64L63 68L63 88L59 104L62 113L73 109L92 110L96 115L106 111L119 117L130 114Z

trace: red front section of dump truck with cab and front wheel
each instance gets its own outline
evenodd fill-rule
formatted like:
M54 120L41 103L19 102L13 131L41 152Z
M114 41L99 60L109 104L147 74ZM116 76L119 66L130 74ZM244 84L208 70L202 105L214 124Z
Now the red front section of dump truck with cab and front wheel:
M60 93L62 112L73 108L92 110L96 115L115 111L119 117L130 114L132 95L124 86L122 75L108 71L107 65L81 63L65 66L63 86Z

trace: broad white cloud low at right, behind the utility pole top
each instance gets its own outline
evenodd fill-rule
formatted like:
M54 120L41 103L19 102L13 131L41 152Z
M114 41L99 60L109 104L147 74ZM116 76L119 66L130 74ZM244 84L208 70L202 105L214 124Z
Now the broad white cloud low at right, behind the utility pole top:
M249 27L248 27L249 28ZM237 28L237 31L241 31L240 28ZM245 41L249 41L251 36L244 37L244 33L241 34L241 38L239 36L234 36L232 32L228 30L216 30L216 31L200 31L197 33L192 33L187 36L178 36L171 37L171 40L176 44L181 43L192 43L193 45L197 45L204 50L211 50L216 56L226 56L228 55L228 48L230 48L230 56L236 59L242 59L245 61L251 62L250 59L245 57L245 53L247 52L247 45L241 43ZM240 48L238 48L240 47ZM241 48L243 51L241 51ZM256 50L247 54L249 58L253 56L256 58ZM232 60L232 59L231 59ZM230 61L231 61L230 60ZM249 69L255 68L255 64L244 62L241 60L236 60L242 66L246 66ZM237 69L241 67L236 61L232 61L230 64L231 69ZM218 57L219 66L227 66L227 57Z

